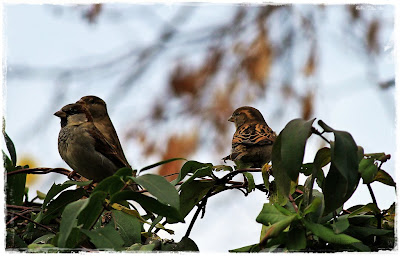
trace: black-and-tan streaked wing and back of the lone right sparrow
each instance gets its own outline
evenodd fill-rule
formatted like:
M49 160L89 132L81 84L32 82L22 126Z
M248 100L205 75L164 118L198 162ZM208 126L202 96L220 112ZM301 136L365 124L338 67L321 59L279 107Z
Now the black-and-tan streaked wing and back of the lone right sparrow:
M266 124L250 123L239 127L232 139L232 147L239 145L262 146L272 145L275 141L275 133Z

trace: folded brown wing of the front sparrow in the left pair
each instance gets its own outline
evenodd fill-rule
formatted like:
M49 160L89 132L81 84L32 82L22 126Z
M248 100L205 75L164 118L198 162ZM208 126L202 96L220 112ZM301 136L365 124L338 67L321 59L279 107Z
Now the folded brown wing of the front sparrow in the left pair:
M95 140L95 149L115 164L118 168L122 168L125 166L129 166L129 164L118 154L117 149L108 143L103 134L94 126L93 123L90 123L90 127L85 130L94 138Z

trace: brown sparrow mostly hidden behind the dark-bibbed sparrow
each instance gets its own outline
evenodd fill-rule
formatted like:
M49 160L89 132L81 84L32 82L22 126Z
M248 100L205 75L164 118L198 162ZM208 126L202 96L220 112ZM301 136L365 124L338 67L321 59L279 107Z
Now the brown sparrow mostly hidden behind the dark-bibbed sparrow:
M115 147L125 166L130 167L128 161L126 160L124 151L122 150L122 146L118 139L114 125L108 116L107 106L104 100L97 96L84 96L76 103L86 106L93 117L93 123L96 128L103 134L106 140Z

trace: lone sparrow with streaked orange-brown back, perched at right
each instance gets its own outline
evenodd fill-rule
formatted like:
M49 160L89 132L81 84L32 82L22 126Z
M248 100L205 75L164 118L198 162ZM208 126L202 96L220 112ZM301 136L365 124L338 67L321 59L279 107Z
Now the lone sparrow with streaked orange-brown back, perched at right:
M232 138L232 153L222 160L232 160L239 169L262 168L271 160L276 134L256 108L244 106L236 109L228 121L236 131Z

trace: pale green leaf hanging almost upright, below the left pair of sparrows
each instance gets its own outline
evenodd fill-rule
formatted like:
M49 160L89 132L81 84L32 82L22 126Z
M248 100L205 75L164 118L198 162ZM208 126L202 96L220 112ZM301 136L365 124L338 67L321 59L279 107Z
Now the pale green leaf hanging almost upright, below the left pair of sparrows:
M77 217L89 204L89 199L81 199L67 205L61 215L58 247L65 248L72 228L77 227Z

